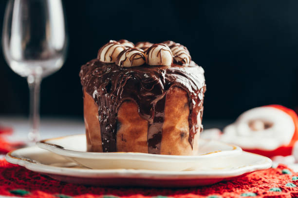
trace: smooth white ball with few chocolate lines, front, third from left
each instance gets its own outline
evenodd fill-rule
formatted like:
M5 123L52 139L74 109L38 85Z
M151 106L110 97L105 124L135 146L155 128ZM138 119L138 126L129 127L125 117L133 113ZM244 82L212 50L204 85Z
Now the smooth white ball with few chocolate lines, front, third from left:
M146 63L150 66L170 66L173 63L171 49L163 43L154 44L146 51Z

